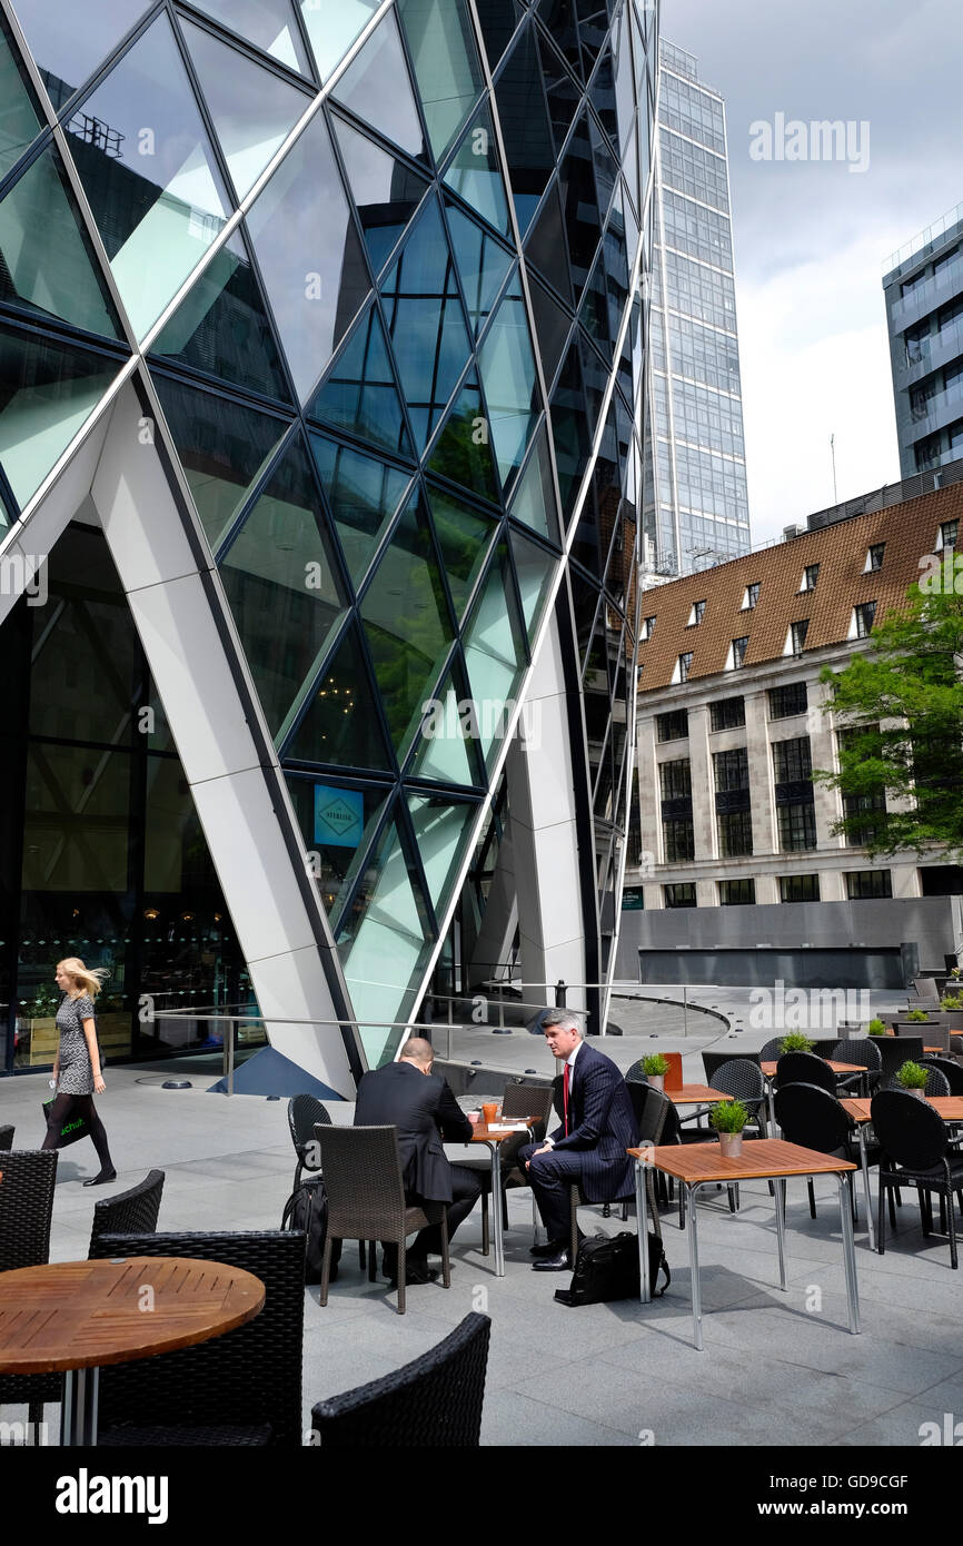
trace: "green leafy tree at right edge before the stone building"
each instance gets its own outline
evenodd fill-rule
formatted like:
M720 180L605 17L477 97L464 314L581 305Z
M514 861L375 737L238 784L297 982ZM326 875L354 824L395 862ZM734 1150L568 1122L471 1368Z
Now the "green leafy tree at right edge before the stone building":
M827 711L844 733L839 771L813 778L842 793L835 830L869 853L941 844L963 858L963 594L954 578L963 589L952 563L926 575L844 671L822 671L833 685Z

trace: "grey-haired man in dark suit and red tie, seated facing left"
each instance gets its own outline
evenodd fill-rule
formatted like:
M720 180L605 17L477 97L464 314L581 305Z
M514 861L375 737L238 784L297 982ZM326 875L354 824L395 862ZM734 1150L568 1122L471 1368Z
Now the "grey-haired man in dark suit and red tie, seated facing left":
M635 1112L626 1082L611 1057L581 1039L578 1019L569 1010L552 1010L543 1019L550 1051L564 1057L563 1122L541 1144L519 1150L549 1243L532 1246L536 1272L564 1272L572 1266L569 1249L570 1186L581 1187L586 1203L611 1203L632 1194L632 1160L637 1142Z

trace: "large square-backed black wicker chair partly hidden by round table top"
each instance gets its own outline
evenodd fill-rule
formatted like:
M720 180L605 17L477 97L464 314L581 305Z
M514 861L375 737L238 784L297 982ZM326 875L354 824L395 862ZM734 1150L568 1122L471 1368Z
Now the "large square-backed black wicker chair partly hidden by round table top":
M305 1237L100 1235L96 1257L199 1257L254 1272L264 1308L244 1326L176 1353L100 1370L104 1446L301 1444Z

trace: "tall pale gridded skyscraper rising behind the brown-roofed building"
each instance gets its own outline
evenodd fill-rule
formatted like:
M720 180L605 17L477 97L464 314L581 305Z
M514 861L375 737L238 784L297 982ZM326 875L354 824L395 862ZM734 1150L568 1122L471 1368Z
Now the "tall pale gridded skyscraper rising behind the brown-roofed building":
M646 434L646 569L750 550L725 104L662 40Z

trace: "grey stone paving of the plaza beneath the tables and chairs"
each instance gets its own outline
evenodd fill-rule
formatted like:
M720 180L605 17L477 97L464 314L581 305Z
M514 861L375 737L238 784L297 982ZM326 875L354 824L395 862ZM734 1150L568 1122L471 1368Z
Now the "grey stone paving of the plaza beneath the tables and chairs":
M550 1071L544 1045L535 1045L532 1065ZM683 1067L702 1078L692 1048ZM85 1257L94 1201L155 1166L167 1177L161 1229L278 1226L294 1173L286 1102L207 1095L209 1081L196 1074L192 1090L164 1090L162 1078L108 1068L99 1107L119 1177L83 1190L96 1170L93 1146L62 1152L51 1260ZM0 1082L0 1124L15 1124L15 1147L39 1146L45 1098L42 1074ZM332 1105L335 1121L351 1113ZM329 1305L322 1309L317 1288L308 1289L305 1427L312 1402L397 1368L482 1309L492 1316L482 1444L917 1447L921 1424L963 1413L961 1274L951 1272L943 1237L923 1240L912 1194L886 1255L870 1252L859 1195L863 1334L850 1336L835 1184L818 1181L816 1197L812 1220L804 1181L790 1183L785 1294L765 1183L744 1183L737 1217L723 1192L700 1204L703 1353L691 1345L688 1240L674 1209L663 1215L672 1285L648 1306L556 1305L553 1292L569 1279L530 1269L527 1190L512 1195L505 1277L481 1254L476 1211L454 1240L451 1288L411 1288L403 1317L383 1282L368 1283L348 1243ZM623 1226L598 1209L584 1211L581 1223L634 1229L634 1220Z

